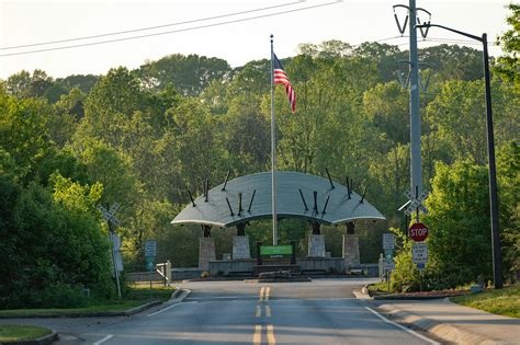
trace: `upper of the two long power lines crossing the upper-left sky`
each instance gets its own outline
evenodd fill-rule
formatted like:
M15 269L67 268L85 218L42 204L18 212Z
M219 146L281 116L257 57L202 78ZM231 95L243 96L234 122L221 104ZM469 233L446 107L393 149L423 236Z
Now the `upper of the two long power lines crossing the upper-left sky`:
M282 8L282 7L290 7L290 5L302 3L302 2L305 2L305 1L306 0L298 0L298 1L295 1L295 2L289 2L289 3L284 3L284 4L264 7L264 8L253 9L253 10L247 10L247 11L240 11L240 12L234 12L234 13L227 13L227 14L221 14L221 15L214 15L214 16L206 16L206 18L201 18L201 19L195 19L195 20L190 20L190 21L169 23L169 24L162 24L162 25L156 25L156 26L147 26L147 27L140 27L140 28L117 31L117 32L112 32L112 33L106 33L106 34L81 36L81 37L74 37L74 38L65 38L65 39L57 39L57 41L47 41L47 42L39 42L39 43L31 43L31 44L24 44L24 45L19 45L19 46L1 47L0 50L10 50L10 49L36 47L36 46L52 45L52 44L57 44L57 43L67 43L67 42L75 42L75 41L92 39L92 38L100 38L100 37L106 37L106 36L115 36L115 35L122 35L122 34L129 34L129 33L149 31L149 30L157 30L157 28L162 28L162 27L193 24L193 23L197 23L197 22L205 22L205 21L212 21L212 20L216 20L216 19L241 15L241 14L246 14L246 13L260 12L260 11L272 10L272 9Z

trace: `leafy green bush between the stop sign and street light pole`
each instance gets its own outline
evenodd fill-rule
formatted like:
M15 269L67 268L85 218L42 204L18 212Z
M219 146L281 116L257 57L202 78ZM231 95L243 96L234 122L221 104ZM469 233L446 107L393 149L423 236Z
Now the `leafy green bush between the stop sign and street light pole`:
M438 163L430 214L429 261L444 287L491 277L491 235L487 168L470 161Z

